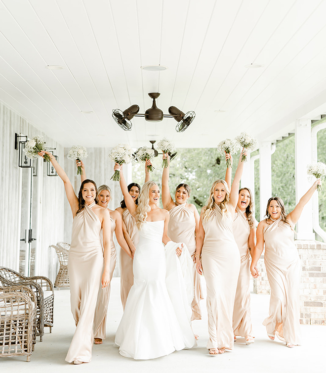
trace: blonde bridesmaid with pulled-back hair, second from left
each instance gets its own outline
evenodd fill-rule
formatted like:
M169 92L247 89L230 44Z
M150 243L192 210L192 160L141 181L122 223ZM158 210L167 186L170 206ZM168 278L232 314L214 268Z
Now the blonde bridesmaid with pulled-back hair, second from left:
M85 166L83 162L77 162L77 166L82 167L82 175L81 180L82 182L86 179L86 172ZM108 209L110 212L110 219L111 219L111 260L110 260L110 282L113 277L113 272L116 267L117 261L117 252L116 246L113 240L113 233L116 233L117 241L121 246L122 250L132 258L132 252L127 245L126 240L124 239L122 233L122 218L118 211L110 210L108 208L110 199L111 199L111 189L107 185L99 186L97 190L98 195L98 204L101 207ZM128 234L128 233L127 233ZM102 340L105 339L105 331L106 331L106 318L108 312L108 305L110 300L110 291L111 291L111 284L102 289L102 286L99 287L98 295L97 295L97 302L95 308L95 316L94 316L94 344L102 344Z

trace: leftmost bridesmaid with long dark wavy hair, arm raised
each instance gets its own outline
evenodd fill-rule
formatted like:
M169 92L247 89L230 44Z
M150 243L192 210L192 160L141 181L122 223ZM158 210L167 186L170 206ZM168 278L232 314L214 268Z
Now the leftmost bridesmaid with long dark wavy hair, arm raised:
M76 331L66 361L74 364L89 363L92 358L93 320L101 275L102 287L110 283L110 213L98 205L96 184L92 180L86 179L82 182L77 197L70 180L53 155L47 151L39 153L41 156L44 154L49 155L53 167L64 183L74 217L68 275L71 311Z

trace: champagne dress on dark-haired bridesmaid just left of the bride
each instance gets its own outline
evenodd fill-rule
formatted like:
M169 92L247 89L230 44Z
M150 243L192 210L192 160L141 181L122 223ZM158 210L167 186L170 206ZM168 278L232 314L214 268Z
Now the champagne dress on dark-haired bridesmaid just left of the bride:
M130 214L129 210L125 208L122 211L122 219L126 226L127 232L131 238L131 241L137 246L139 241L139 233L136 228L136 222L134 217ZM133 285L133 261L122 249L120 250L120 273L121 273L121 302L124 310L125 303L131 286Z

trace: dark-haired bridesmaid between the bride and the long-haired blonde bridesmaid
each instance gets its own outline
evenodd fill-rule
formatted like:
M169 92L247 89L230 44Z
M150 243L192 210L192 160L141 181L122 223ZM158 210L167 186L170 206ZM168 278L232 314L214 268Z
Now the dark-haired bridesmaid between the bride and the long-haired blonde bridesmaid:
M190 197L190 186L187 184L179 184L175 189L175 201L173 201L169 186L169 167L170 159L168 154L163 154L163 159L167 158L168 167L163 168L162 174L162 204L163 208L170 213L167 235L174 242L184 242L190 255L194 259L194 299L192 301L192 317L191 320L201 320L202 311L200 300L202 296L202 286L200 275L196 270L195 253L196 253L196 234L199 230L199 213L195 205L187 203ZM198 339L198 335L195 334Z

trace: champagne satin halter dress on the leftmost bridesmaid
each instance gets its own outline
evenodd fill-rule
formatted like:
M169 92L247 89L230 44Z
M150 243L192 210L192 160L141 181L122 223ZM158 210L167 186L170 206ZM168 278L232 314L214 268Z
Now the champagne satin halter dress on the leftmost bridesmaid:
M102 225L91 210L94 205L95 202L89 207L84 205L73 221L68 274L76 331L66 356L69 363L74 360L89 363L92 358L94 313L103 271Z

